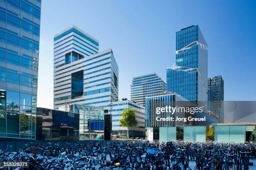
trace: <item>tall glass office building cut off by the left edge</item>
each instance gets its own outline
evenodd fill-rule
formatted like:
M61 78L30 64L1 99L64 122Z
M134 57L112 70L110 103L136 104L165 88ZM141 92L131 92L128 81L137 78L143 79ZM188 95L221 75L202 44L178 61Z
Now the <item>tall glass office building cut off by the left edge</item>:
M36 138L41 0L0 1L0 137Z

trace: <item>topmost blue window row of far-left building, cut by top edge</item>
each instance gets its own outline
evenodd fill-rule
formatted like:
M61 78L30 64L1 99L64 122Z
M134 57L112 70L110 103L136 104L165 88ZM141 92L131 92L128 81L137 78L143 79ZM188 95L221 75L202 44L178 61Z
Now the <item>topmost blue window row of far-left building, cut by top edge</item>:
M5 0L4 0L5 1ZM5 1L8 5L12 5L23 12L37 18L40 20L41 9L40 7L36 6L35 4L27 1L27 0L7 0Z

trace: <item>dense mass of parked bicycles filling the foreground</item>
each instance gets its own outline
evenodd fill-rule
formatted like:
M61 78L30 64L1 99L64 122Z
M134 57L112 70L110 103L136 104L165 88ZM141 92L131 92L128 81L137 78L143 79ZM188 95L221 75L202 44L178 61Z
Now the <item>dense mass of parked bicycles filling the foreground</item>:
M0 161L28 161L23 169L30 170L256 170L255 143L28 142L16 152L11 148L0 148Z

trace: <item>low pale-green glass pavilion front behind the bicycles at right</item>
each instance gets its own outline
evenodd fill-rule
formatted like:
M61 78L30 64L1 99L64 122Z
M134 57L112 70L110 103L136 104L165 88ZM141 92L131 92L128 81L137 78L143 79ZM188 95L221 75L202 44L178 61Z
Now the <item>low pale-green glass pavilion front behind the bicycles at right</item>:
M256 142L256 125L178 126L147 128L147 139L160 141Z

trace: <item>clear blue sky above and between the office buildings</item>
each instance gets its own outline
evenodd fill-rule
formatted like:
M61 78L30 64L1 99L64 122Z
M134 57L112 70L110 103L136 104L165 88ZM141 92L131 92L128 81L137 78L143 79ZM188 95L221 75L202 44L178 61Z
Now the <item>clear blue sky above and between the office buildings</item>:
M76 25L112 48L119 97L132 77L166 81L175 62L175 32L199 25L208 44L208 77L222 75L225 100L256 100L255 0L42 0L38 107L53 108L53 37Z

